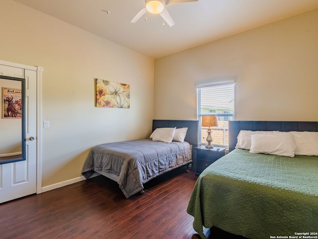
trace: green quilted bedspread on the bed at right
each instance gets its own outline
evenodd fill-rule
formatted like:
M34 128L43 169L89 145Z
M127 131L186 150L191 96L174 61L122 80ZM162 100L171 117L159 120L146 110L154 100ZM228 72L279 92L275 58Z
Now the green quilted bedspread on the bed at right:
M200 174L187 212L202 239L212 226L250 239L318 232L318 157L235 149Z

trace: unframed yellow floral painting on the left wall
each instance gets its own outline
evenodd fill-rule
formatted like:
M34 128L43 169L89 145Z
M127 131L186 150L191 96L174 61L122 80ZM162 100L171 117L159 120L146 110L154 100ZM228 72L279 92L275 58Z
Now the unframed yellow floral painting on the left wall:
M96 80L96 107L130 108L130 85Z

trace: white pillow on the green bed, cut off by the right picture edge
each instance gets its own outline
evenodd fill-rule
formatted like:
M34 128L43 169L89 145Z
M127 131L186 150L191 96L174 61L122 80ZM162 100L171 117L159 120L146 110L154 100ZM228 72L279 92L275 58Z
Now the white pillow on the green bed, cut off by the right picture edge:
M318 156L318 132L291 131L296 149L295 155Z

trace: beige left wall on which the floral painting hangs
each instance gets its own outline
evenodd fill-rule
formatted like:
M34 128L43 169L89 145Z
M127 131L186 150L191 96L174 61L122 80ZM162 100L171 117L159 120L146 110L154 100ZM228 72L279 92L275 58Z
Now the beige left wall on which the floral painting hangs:
M44 69L43 187L79 177L95 144L150 135L153 59L12 0L0 9L0 59ZM94 107L94 78L130 84L131 108Z

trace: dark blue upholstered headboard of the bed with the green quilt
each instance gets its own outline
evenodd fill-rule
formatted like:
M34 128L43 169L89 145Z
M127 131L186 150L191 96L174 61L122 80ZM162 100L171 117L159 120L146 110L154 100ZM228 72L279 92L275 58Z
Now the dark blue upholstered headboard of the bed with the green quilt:
M314 121L229 121L229 151L234 150L240 130L251 131L318 131Z

